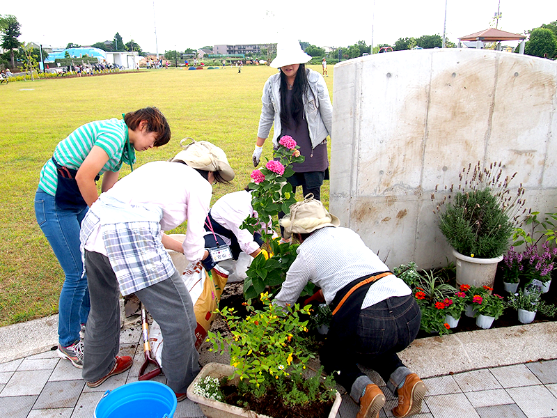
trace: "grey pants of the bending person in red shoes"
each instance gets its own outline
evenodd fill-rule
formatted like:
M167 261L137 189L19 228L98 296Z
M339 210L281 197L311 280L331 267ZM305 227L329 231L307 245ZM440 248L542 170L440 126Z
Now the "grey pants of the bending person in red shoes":
M95 382L111 371L120 349L120 288L106 256L85 251L85 269L91 311L85 330L82 376L87 382ZM199 373L199 354L195 348L194 305L184 282L174 272L135 294L161 327L166 384L176 393L185 393Z

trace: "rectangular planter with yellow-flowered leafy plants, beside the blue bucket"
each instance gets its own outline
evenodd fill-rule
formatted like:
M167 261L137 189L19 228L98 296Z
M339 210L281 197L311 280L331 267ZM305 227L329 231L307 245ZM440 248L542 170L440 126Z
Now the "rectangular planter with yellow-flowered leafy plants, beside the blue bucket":
M188 398L207 417L336 417L341 398L332 377L323 377L321 371L307 376L308 360L314 357L304 338L310 306L296 304L283 310L272 304L267 293L260 300L262 309L244 302L250 312L246 318L238 318L228 307L219 311L230 334L209 332L207 341L213 344L211 350L228 350L230 365L205 365L188 387ZM207 376L210 391L205 385ZM302 410L317 415L304 415Z

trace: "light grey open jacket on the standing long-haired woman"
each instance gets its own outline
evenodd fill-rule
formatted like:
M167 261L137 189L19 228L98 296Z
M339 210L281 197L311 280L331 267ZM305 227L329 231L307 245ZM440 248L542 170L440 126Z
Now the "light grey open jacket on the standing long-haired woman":
M333 105L329 98L329 90L325 79L319 72L306 69L309 88L304 97L304 119L308 123L311 147L321 144L327 135L331 135L333 125ZM257 136L269 137L274 123L273 146L278 146L281 134L281 73L278 72L265 82L263 86L263 103Z

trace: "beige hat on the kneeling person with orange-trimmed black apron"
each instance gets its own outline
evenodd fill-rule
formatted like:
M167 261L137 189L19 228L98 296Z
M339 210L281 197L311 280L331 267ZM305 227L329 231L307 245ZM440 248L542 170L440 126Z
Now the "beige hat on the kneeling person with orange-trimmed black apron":
M339 226L340 220L310 193L304 201L290 206L290 213L280 220L280 224L284 228L284 238L288 239L292 233L310 233L324 226Z

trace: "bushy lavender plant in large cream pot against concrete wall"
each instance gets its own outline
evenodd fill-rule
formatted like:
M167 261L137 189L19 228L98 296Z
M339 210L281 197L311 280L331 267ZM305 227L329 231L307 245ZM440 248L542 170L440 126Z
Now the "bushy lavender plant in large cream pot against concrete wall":
M503 177L501 167L501 162L487 167L478 162L473 169L470 164L460 173L459 187L448 189L454 194L437 206L439 229L457 259L457 284L493 287L497 263L509 247L524 189L511 196L509 183L515 175Z

